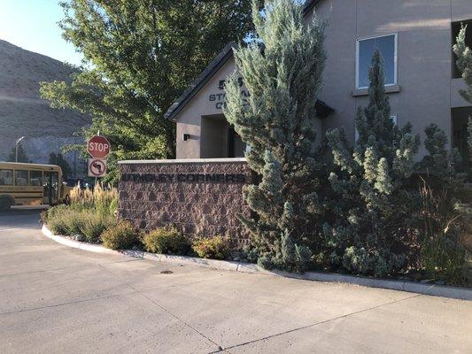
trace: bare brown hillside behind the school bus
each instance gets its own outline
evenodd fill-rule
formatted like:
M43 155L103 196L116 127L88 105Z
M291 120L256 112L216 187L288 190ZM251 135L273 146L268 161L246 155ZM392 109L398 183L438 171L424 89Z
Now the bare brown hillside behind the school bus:
M0 160L23 135L32 162L47 162L50 152L77 140L74 131L89 124L89 117L51 109L39 95L39 82L68 81L73 72L56 59L0 40Z

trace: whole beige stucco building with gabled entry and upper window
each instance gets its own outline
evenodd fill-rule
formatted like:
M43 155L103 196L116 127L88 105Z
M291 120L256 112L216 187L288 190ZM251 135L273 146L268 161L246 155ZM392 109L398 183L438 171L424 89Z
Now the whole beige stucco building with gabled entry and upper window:
M452 47L460 23L472 25L471 0L307 2L306 21L314 12L329 21L328 60L315 118L321 135L344 127L354 141L354 118L358 107L368 103L368 66L376 48L384 59L392 119L399 126L411 122L414 132L421 134L429 123L436 123L467 159L466 126L472 107L460 97L464 82ZM468 44L472 47L472 26ZM228 44L166 113L177 124L177 158L244 155L244 143L221 111L224 81L235 71L233 46Z

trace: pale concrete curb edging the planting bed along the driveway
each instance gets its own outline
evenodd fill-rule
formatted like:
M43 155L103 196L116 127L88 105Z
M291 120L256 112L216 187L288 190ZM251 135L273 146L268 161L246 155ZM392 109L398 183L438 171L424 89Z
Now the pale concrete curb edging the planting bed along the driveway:
M340 282L353 285L360 285L369 288L391 289L398 291L406 291L410 293L442 296L459 300L472 301L472 289L457 288L445 285L423 284L414 281L395 281L386 279L375 279L356 275L344 275L337 273L321 273L321 272L306 272L303 274L289 273L284 271L267 271L257 265L250 263L232 262L226 260L194 258L187 256L170 256L164 254L149 253L143 250L109 250L103 246L89 244L86 242L78 242L70 240L63 236L53 235L50 229L43 225L41 231L43 235L49 237L51 240L61 243L67 247L72 247L78 250L87 250L89 252L125 255L132 258L142 258L154 262L171 263L177 265L200 266L204 268L216 269L221 271L231 271L240 273L262 273L268 275L282 276L285 278L293 278L304 281L325 281L325 282Z

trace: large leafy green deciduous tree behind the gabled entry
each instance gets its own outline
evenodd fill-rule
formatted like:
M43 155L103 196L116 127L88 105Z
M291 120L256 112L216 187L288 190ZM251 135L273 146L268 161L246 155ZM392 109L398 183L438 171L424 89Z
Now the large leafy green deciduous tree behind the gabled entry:
M83 54L71 82L43 82L54 108L89 113L125 158L173 158L166 109L230 41L251 30L249 0L70 0L63 36Z

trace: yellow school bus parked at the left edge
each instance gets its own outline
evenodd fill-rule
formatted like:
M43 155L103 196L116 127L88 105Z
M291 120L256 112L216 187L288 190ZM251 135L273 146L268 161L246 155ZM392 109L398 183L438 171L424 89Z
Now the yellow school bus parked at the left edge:
M58 165L0 162L0 211L13 205L55 205L68 200Z

